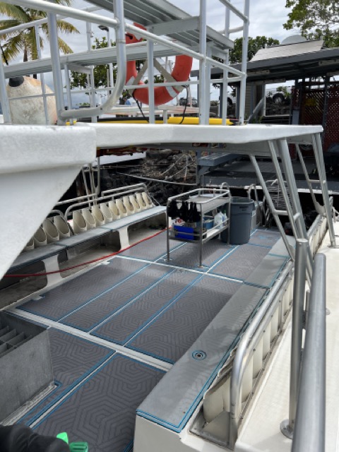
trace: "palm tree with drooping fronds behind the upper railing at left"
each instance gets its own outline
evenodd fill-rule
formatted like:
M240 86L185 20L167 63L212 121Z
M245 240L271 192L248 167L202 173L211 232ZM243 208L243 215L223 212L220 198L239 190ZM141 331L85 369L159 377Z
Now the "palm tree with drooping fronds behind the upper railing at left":
M63 4L69 6L71 0L55 0L57 4ZM6 30L6 28L15 27L23 23L30 23L33 20L42 19L47 17L47 13L44 11L37 11L36 9L22 8L13 4L6 4L0 1L0 14L7 16L8 19L0 20L0 30ZM71 23L64 20L57 20L57 27L61 32L66 33L78 33L78 29L71 25ZM49 39L49 31L47 23L40 25L40 30ZM29 59L37 59L37 42L35 36L35 27L26 28L16 32L9 32L2 35L4 43L4 60L11 60L23 52L23 61ZM69 47L64 40L58 37L59 49L64 54L72 53L71 47ZM40 47L44 47L44 39L40 37Z

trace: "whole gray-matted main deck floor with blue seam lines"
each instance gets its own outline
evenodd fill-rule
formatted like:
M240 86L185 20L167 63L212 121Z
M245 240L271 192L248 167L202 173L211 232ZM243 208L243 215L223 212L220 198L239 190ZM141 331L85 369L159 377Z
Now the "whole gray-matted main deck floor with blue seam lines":
M8 309L49 328L54 367L54 388L18 422L42 434L66 431L91 452L130 451L148 393L240 287L261 301L288 259L273 230L255 230L238 246L210 240L202 268L196 244L170 246L167 262L162 232ZM239 335L253 309L238 310Z

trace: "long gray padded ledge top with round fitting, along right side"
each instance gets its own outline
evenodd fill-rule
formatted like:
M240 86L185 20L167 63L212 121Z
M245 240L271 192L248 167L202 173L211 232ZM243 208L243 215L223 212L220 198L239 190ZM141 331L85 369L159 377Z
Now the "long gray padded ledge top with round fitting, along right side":
M239 333L265 292L261 287L242 284L218 316L143 401L138 414L174 432L180 432L230 355ZM198 350L206 353L205 359L194 359L194 352Z

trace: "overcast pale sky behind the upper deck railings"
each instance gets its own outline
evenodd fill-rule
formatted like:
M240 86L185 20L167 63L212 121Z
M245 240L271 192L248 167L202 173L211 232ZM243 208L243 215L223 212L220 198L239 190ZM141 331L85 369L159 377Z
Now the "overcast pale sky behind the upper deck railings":
M182 8L191 16L197 16L199 14L199 0L169 0L175 6ZM219 0L207 0L208 4L208 25L215 30L222 30L225 28L225 6L221 4ZM233 0L232 4L237 6L240 10L243 8L243 0ZM83 0L73 0L73 6L77 8L84 8L88 6ZM250 25L249 25L249 36L266 36L278 39L280 42L287 36L292 34L297 34L297 30L285 30L283 28L283 23L287 20L287 14L290 10L285 8L285 0L251 0L250 4ZM104 13L103 11L97 11L97 13ZM107 11L105 11L107 15ZM69 19L68 19L69 20ZM73 49L73 52L83 52L86 50L86 33L84 23L80 23L76 20L69 20L76 25L78 30L81 31L80 35L64 35L61 37L66 40L66 42ZM239 19L237 19L234 14L231 14L231 28L240 25ZM97 28L97 25L93 25L93 39L94 37L106 36L106 32L102 32ZM233 34L231 38L239 37L241 34ZM112 33L111 39L114 40L114 35ZM45 45L45 50L43 53L44 57L49 54L49 46ZM194 64L196 67L197 61ZM52 76L47 74L46 81L49 85L52 85ZM195 95L194 90L194 95ZM211 88L211 98L218 99L218 92Z

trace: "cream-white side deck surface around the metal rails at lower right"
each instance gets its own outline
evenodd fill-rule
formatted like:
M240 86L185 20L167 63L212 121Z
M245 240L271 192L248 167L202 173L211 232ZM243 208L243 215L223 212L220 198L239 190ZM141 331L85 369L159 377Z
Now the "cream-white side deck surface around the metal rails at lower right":
M338 237L339 225L334 224ZM330 247L328 232L318 251L326 256L326 452L338 451L339 395L338 375L338 256L339 249ZM251 408L239 434L236 452L290 451L291 441L280 432L280 423L288 419L290 394L290 353L292 322L275 351L272 365L263 379L261 390L252 400ZM311 395L310 395L311 397ZM267 413L270 416L267 416Z

